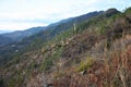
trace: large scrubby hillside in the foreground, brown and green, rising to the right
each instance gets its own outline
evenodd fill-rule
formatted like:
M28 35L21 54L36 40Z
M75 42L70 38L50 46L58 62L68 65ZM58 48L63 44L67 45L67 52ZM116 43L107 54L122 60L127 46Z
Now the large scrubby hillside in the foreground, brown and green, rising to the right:
M17 44L29 41L1 65L0 86L130 87L131 8L75 18L74 26L71 20Z

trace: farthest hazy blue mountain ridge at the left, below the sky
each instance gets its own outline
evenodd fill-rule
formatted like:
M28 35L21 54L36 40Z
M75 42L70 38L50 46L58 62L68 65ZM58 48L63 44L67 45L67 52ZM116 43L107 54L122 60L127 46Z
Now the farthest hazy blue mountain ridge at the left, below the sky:
M0 36L1 36L0 37L0 47L10 45L12 42L19 42L23 38L29 37L29 36L37 34L44 29L45 29L45 27L33 27L33 28L29 28L26 30L16 30L16 32L12 32L12 33L0 34Z

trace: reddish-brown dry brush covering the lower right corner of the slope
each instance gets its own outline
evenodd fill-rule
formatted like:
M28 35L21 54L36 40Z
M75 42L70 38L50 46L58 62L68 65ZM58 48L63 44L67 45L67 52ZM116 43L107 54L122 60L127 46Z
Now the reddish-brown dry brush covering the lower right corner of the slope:
M119 42L127 47L116 48L111 52L107 51L103 58L94 59L95 62L90 69L84 70L87 71L84 74L71 72L55 79L55 87L130 87L131 36L119 39ZM115 45L118 45L118 40Z

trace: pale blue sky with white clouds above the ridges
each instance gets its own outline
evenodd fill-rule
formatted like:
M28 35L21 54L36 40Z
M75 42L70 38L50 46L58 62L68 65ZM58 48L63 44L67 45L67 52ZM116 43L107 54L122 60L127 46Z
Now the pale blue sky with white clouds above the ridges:
M93 11L131 7L131 0L0 0L0 30L47 26Z

